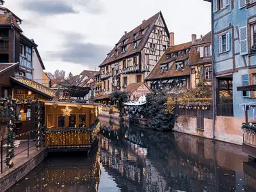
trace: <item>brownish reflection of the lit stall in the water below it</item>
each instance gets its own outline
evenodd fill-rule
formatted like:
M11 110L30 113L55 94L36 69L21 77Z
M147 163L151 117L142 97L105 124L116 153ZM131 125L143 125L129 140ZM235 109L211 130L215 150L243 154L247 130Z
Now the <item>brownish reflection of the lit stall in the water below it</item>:
M100 182L100 147L90 158L78 153L51 155L10 191L85 192L98 191Z

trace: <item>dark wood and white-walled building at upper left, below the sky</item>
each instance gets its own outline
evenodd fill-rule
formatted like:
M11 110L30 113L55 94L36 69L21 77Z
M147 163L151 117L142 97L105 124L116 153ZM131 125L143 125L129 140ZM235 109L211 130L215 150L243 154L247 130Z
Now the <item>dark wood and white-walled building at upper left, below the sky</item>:
M19 63L18 74L42 83L43 65L33 39L20 28L22 20L12 11L0 7L0 63Z

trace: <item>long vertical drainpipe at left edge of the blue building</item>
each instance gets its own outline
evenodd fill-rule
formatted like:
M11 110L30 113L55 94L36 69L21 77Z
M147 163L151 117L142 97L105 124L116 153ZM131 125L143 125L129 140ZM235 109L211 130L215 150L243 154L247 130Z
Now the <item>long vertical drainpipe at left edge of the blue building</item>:
M215 139L215 120L216 120L216 99L215 99L215 51L214 51L214 16L213 1L211 1L211 84L213 89L213 139Z

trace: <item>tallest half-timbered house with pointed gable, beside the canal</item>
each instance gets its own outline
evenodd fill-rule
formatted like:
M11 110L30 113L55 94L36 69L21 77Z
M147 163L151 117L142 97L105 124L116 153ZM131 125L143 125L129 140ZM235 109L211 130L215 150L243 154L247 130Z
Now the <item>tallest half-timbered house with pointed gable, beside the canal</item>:
M125 32L100 64L103 95L144 82L168 46L169 30L161 11Z

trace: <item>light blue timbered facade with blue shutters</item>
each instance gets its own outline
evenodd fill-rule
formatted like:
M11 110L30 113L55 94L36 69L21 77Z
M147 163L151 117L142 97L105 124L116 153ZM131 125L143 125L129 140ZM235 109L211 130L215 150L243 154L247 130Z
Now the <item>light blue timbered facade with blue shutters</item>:
M242 118L239 104L256 101L256 93L237 91L256 84L256 0L213 0L213 18L217 103L228 82L234 117Z

